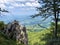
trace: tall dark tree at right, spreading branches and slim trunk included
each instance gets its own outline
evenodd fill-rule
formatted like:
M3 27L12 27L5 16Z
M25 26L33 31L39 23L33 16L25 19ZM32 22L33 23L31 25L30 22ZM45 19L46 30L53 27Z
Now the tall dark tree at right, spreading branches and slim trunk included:
M41 7L37 7L38 14L32 15L32 18L37 16L42 16L42 18L47 19L50 16L53 17L55 22L54 35L57 38L57 24L60 16L60 0L38 0Z

